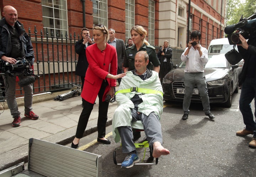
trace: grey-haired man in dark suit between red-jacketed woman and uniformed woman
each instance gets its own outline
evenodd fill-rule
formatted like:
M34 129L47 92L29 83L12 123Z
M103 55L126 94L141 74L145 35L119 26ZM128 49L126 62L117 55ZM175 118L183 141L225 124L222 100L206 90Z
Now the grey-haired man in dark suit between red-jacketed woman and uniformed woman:
M116 51L117 51L117 65L118 65L117 74L121 74L121 73L123 73L122 65L123 65L123 60L124 60L126 47L125 47L124 41L122 39L117 39L115 37L116 32L113 28L108 29L108 33L110 35L110 39L108 40L108 44L114 46L116 48ZM118 82L118 84L120 84L121 78L117 79L117 82ZM115 96L110 101L110 103L113 103L114 101L116 101Z

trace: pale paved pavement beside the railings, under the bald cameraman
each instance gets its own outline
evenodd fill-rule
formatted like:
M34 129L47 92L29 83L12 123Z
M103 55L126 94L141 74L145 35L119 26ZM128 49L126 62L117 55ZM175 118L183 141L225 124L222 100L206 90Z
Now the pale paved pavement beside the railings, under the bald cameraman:
M54 100L57 95L69 92L65 90L55 93L43 93L33 96L33 112L38 120L24 116L24 99L18 98L18 109L21 112L21 126L12 127L13 118L7 107L0 109L0 171L20 162L28 160L28 140L37 138L48 142L66 145L75 137L76 126L82 111L81 96L75 95L63 101ZM108 108L107 126L112 118L117 103L110 103ZM84 136L97 131L98 98L92 110Z

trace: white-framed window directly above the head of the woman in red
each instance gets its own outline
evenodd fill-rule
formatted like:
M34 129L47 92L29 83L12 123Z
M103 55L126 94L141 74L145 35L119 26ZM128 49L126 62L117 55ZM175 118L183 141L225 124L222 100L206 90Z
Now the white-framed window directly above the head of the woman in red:
M93 23L108 26L107 0L92 0Z

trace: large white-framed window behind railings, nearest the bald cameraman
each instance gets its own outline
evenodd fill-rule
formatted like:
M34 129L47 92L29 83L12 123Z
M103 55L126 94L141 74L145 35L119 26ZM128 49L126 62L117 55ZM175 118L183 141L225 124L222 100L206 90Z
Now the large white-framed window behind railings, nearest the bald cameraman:
M65 35L68 30L68 15L66 0L42 0L43 11L43 29L44 34L47 32L50 34L53 31L53 35L59 37L61 33Z

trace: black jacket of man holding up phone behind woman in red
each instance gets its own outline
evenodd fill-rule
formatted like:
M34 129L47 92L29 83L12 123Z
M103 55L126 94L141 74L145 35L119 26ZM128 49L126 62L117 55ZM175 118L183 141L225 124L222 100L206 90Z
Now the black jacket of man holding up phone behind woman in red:
M75 43L75 51L78 54L78 62L76 64L76 70L75 70L75 75L77 76L85 76L85 73L88 68L88 62L85 55L85 52L86 52L85 44L82 43L83 41L84 39L80 39ZM88 46L89 45L91 44L88 43Z

